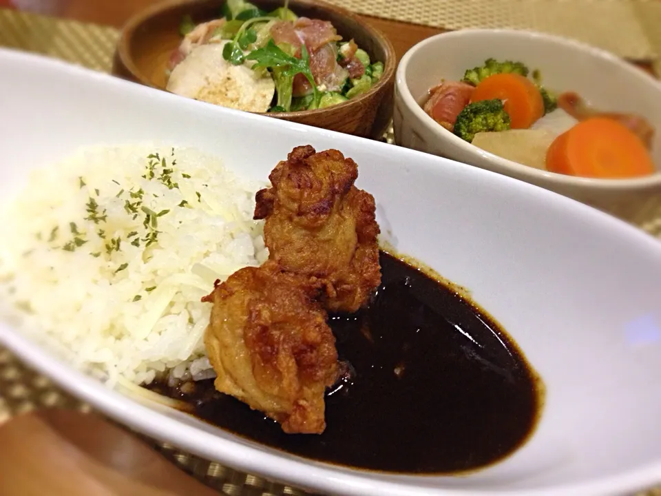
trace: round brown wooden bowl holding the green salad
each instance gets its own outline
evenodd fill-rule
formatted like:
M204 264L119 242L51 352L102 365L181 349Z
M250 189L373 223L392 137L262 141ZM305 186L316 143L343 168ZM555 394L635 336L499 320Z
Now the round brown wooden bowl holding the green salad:
M124 26L114 56L113 74L165 90L165 69L170 53L181 41L182 18L188 14L195 23L218 19L223 3L223 0L169 0L139 12ZM266 11L283 5L282 0L251 0L251 3ZM370 91L338 105L263 115L356 136L381 138L392 118L396 65L392 43L355 14L330 3L291 0L289 8L300 17L333 23L342 39L353 38L371 60L384 63L384 75Z

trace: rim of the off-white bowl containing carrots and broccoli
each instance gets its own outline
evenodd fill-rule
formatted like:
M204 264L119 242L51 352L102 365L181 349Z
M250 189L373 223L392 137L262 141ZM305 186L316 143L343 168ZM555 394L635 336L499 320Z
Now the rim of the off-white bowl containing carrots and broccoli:
M446 41L451 42L453 39L457 38L466 38L466 37L481 37L481 36L512 36L518 37L521 40L545 40L555 43L556 45L563 45L566 48L571 50L578 50L594 58L605 60L618 70L627 72L629 76L639 79L647 85L651 85L656 88L660 93L661 98L661 81L653 79L653 77L646 74L639 68L627 63L620 57L608 52L607 50L602 50L601 48L596 48L593 45L583 43L582 41L576 41L574 39L568 39L563 37L558 37L554 34L546 34L542 32L536 32L532 30L513 30L513 29L466 29L466 30L457 30L450 32L443 32L440 34L435 34L432 37L424 39L419 43L413 45L404 56L401 58L399 67L397 68L397 74L395 76L395 86L397 87L397 92L401 95L401 99L408 107L413 116L417 121L423 125L426 130L432 132L439 136L439 138L450 141L453 145L463 149L466 153L482 156L483 158L489 160L494 168L492 170L496 172L503 172L507 175L514 176L516 178L523 178L525 180L534 180L536 184L541 183L552 183L558 187L584 187L591 189L598 189L601 191L613 191L613 190L635 190L635 189L647 189L649 187L661 187L661 169L658 169L654 174L650 176L638 177L638 178L627 178L627 179L605 179L605 178L586 178L586 177L577 177L569 176L566 174L558 174L556 172L549 172L541 169L535 169L534 167L529 167L514 161L511 161L507 158L492 154L487 152L472 143L463 141L459 136L455 136L453 133L448 132L448 130L443 129L438 125L434 119L424 112L422 107L417 103L412 93L408 88L407 72L408 72L408 63L415 55L416 52L422 50L423 48L428 47L428 45L434 45L436 43L445 43ZM480 167L480 166L476 166Z

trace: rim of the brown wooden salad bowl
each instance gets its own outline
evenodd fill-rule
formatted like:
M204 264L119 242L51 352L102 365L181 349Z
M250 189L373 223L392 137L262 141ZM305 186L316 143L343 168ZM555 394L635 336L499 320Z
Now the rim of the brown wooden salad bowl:
M151 81L149 81L149 79L147 79L143 75L143 73L140 71L138 66L134 63L134 59L130 54L129 48L131 47L131 41L136 30L138 30L140 26L143 25L143 23L145 23L145 21L151 19L152 17L156 17L158 14L161 14L162 12L165 12L167 10L170 10L171 8L175 8L178 6L185 6L185 5L193 6L193 4L199 3L200 1L202 0L160 1L151 6L148 6L147 8L144 8L143 10L140 10L132 17L130 17L129 20L123 25L119 40L117 42L116 56L118 56L121 63L123 63L125 68L132 74L132 76L134 76L140 82L140 84L153 87L156 90L162 90L167 92L165 88L158 87L153 83L151 83ZM220 3L220 0L218 1ZM341 14L343 17L351 19L356 23L359 23L361 26L363 26L363 28L365 28L368 34L370 34L370 36L373 37L373 39L375 39L376 43L380 45L381 48L383 48L386 54L385 57L386 60L383 61L384 74L381 75L381 79L379 79L379 81L377 81L376 84L372 85L372 87L370 87L370 89L367 92L363 94L359 94L358 96L355 96L353 99L347 100L345 102L336 103L335 105L330 105L330 107L324 107L320 109L317 108L314 110L298 110L296 112L250 112L251 114L266 115L270 117L283 118L283 119L295 118L303 115L320 116L328 112L329 109L340 110L343 108L348 108L350 107L350 105L353 105L355 103L366 101L370 99L373 95L377 94L377 92L380 92L384 87L388 86L390 82L393 79L395 79L395 70L397 69L397 55L395 54L395 47L392 45L390 39L386 37L386 34L384 34L384 32L375 28L370 23L358 17L357 14L353 14L353 12L350 12L349 10L346 10L343 7L336 6L335 4L328 3L327 1L324 0L291 0L291 3L307 4L309 6L315 6L317 8L321 8L322 10L333 10Z

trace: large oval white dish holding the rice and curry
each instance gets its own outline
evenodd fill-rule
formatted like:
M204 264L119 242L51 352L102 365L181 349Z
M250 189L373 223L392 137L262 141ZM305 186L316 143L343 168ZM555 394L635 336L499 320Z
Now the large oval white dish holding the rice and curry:
M192 146L262 180L295 145L340 149L359 164L358 184L375 195L390 242L470 289L547 391L534 435L499 464L463 477L370 473L137 403L0 318L0 342L97 409L222 464L333 495L615 495L661 482L658 240L563 196L429 154L180 99L37 56L0 50L0 72L0 196L81 145Z

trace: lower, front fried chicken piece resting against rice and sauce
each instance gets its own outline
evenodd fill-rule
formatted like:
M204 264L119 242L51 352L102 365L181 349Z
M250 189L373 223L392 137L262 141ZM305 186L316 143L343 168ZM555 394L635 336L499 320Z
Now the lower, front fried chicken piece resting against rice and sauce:
M203 299L213 302L204 346L214 386L286 433L324 431L324 393L337 380L335 338L317 292L267 261L233 273Z

